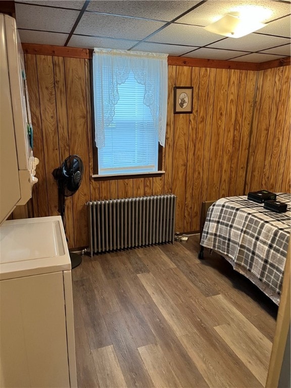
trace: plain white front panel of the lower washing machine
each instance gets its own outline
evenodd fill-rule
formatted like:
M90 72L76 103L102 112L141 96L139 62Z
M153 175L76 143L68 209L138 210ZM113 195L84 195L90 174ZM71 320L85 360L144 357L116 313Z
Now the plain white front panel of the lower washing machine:
M70 387L63 272L0 281L2 387Z

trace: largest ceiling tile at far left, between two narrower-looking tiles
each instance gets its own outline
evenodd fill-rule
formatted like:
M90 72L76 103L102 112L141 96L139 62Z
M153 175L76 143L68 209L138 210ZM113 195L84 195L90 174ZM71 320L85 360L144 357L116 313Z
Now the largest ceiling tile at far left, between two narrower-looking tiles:
M79 11L15 4L18 28L70 33ZM53 43L52 43L53 44Z

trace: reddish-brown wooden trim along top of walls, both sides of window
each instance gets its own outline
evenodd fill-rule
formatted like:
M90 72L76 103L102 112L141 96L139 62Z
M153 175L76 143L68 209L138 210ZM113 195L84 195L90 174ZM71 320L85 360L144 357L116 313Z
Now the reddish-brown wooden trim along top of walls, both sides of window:
M22 43L22 49L25 54L50 55L53 57L69 57L91 59L93 50L80 49L79 47L64 47L48 44ZM218 59L200 59L188 57L168 57L168 65L172 66L190 66L206 67L214 69L234 69L234 70L266 70L275 67L289 66L290 57L279 58L273 61L253 63L253 62L235 62L221 61Z

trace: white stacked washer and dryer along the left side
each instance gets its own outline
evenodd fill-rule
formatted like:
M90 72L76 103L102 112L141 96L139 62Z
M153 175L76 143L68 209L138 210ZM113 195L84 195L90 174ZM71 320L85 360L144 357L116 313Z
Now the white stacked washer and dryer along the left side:
M7 221L37 182L23 52L0 14L0 386L76 387L71 261L60 216Z

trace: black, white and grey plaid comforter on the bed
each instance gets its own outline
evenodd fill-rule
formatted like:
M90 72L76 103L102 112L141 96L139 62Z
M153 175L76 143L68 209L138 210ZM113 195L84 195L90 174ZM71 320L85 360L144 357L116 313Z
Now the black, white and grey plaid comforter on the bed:
M276 293L281 293L290 236L291 196L278 194L287 203L286 213L275 213L264 204L243 197L222 198L208 210L201 245L233 260Z

